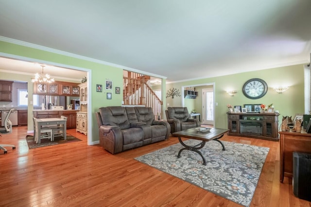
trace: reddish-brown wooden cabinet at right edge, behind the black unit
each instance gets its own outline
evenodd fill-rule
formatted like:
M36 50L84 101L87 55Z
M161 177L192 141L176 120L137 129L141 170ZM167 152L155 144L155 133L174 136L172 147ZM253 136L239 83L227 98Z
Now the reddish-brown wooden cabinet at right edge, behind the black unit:
M280 131L280 182L293 177L293 152L311 153L311 134Z

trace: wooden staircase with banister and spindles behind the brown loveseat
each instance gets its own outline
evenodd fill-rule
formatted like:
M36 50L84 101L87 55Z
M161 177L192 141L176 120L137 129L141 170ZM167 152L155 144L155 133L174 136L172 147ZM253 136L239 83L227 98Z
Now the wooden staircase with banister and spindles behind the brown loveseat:
M157 114L161 112L163 102L150 88L147 83L148 80L150 80L150 76L128 71L127 77L123 76L123 105L151 107L155 119L157 119Z

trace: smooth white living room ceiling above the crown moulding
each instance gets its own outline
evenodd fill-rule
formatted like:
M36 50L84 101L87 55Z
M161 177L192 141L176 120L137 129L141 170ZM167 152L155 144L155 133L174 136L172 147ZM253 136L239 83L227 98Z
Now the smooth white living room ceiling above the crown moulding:
M0 0L0 36L201 79L310 63L311 0Z

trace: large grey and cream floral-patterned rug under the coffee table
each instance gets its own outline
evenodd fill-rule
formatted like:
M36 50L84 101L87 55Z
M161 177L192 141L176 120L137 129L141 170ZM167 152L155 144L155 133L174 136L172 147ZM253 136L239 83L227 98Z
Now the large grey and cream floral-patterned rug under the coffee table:
M199 154L184 150L181 157L177 154L183 146L180 143L135 158L156 169L213 192L242 206L249 207L266 160L269 148L222 141L211 141L200 149L207 160ZM197 140L185 143L196 145Z

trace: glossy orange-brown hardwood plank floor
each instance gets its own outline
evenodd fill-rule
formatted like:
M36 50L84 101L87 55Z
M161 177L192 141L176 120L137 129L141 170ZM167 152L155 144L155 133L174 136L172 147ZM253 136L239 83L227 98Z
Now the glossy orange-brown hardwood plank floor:
M28 149L27 127L2 134L0 143L15 144L16 150L0 152L1 207L241 207L133 159L178 143L177 138L112 155L99 145L88 146L75 129L68 133L83 141ZM251 207L311 207L294 196L291 179L279 182L279 142L222 140L270 147Z

